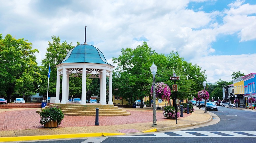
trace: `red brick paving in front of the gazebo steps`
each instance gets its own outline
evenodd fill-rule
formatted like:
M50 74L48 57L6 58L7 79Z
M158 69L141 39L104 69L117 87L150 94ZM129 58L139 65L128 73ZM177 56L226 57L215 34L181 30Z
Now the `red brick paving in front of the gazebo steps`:
M40 115L36 113L38 108L33 109L18 109L11 111L0 112L0 131L9 130L26 130L26 129L42 129L43 125L40 124ZM122 125L132 123L145 123L153 121L152 109L133 109L124 108L130 112L129 116L114 116L114 117L99 117L99 126L107 125ZM192 113L193 114L193 113ZM183 113L185 118L191 114ZM157 121L169 120L166 119L162 111L157 111ZM95 117L91 116L64 116L63 121L58 126L61 127L83 127L95 126Z

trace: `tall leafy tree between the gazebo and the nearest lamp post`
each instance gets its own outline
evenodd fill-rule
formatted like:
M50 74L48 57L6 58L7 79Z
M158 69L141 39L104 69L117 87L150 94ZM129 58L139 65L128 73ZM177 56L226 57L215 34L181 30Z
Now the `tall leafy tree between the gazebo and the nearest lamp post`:
M152 65L152 54L154 51L148 47L146 42L143 42L142 46L138 45L137 48L122 48L121 50L122 55L118 58L113 57L114 63L117 63L116 68L116 76L119 78L126 78L121 79L119 81L123 83L127 83L126 86L120 86L119 83L114 84L114 89L123 90L127 89L128 92L125 93L132 93L134 98L139 98L140 108L143 108L142 99L143 97L149 95L150 92L150 83L152 80L149 80L151 76L150 66ZM114 78L115 80L117 78ZM117 82L117 81L114 81ZM131 95L124 95L126 98L131 97ZM134 99L135 100L135 99Z

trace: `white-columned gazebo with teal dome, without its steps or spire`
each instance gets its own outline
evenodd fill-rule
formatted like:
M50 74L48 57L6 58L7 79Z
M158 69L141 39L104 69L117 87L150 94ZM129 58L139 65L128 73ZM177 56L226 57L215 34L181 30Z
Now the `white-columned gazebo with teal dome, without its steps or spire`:
M57 84L55 103L66 104L69 98L69 78L82 78L81 103L86 104L86 77L100 79L99 103L112 104L112 71L114 66L109 64L102 52L93 45L78 45L71 49L57 67ZM60 95L60 76L62 76L62 95ZM106 102L106 77L109 77L108 103Z

